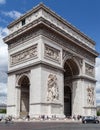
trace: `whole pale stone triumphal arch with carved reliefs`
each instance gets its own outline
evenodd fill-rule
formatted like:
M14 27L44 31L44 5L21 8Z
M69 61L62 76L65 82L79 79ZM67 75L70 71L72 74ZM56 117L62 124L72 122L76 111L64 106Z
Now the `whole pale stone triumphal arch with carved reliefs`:
M8 115L96 115L94 41L43 4L8 29Z

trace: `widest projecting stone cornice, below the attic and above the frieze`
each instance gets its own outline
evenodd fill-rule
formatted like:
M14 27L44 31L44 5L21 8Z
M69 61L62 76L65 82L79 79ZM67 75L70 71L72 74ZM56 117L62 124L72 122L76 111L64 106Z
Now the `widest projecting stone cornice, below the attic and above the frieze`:
M45 20L42 17L39 18L38 20L35 20L32 23L26 25L25 27L19 29L18 31L10 34L9 36L5 37L4 41L7 44L9 44L9 43L11 43L11 40L13 40L15 37L18 37L20 34L25 33L26 31L36 27L37 25L41 26L41 28L43 28L43 26L49 27L50 30L52 29L53 31L56 31L56 33L58 33L59 35L62 35L62 37L66 38L66 40L69 39L71 42L73 42L77 46L80 46L81 48L89 51L89 53L92 53L96 57L98 56L98 53L95 50L89 48L87 45L85 45L84 43L80 42L78 39L75 39L73 36L69 35L65 31L63 31L60 28L56 27L54 24L51 24L49 21ZM44 34L42 34L42 35L44 35ZM48 35L48 34L45 34L45 35ZM55 37L53 36L53 37L49 37L49 38L53 38L54 39Z

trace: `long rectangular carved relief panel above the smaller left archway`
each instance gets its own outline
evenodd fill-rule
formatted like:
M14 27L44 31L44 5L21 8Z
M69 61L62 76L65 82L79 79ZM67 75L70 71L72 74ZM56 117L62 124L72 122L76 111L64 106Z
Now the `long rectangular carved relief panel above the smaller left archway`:
M22 61L37 57L37 45L26 48L10 56L10 64L15 65Z

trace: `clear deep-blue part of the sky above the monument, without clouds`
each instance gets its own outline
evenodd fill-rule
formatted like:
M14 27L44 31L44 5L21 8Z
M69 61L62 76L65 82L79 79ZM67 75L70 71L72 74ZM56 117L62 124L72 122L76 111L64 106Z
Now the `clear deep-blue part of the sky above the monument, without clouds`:
M24 14L40 2L91 37L96 42L96 50L100 52L100 0L5 0L5 4L0 5L0 25L6 27L14 20L5 17L3 12Z

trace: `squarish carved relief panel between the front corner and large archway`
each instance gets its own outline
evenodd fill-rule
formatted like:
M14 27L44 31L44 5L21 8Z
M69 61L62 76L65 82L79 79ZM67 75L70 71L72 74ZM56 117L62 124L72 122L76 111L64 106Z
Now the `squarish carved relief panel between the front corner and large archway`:
M45 58L49 58L53 61L60 63L60 50L48 46L47 44L45 44L44 56Z

